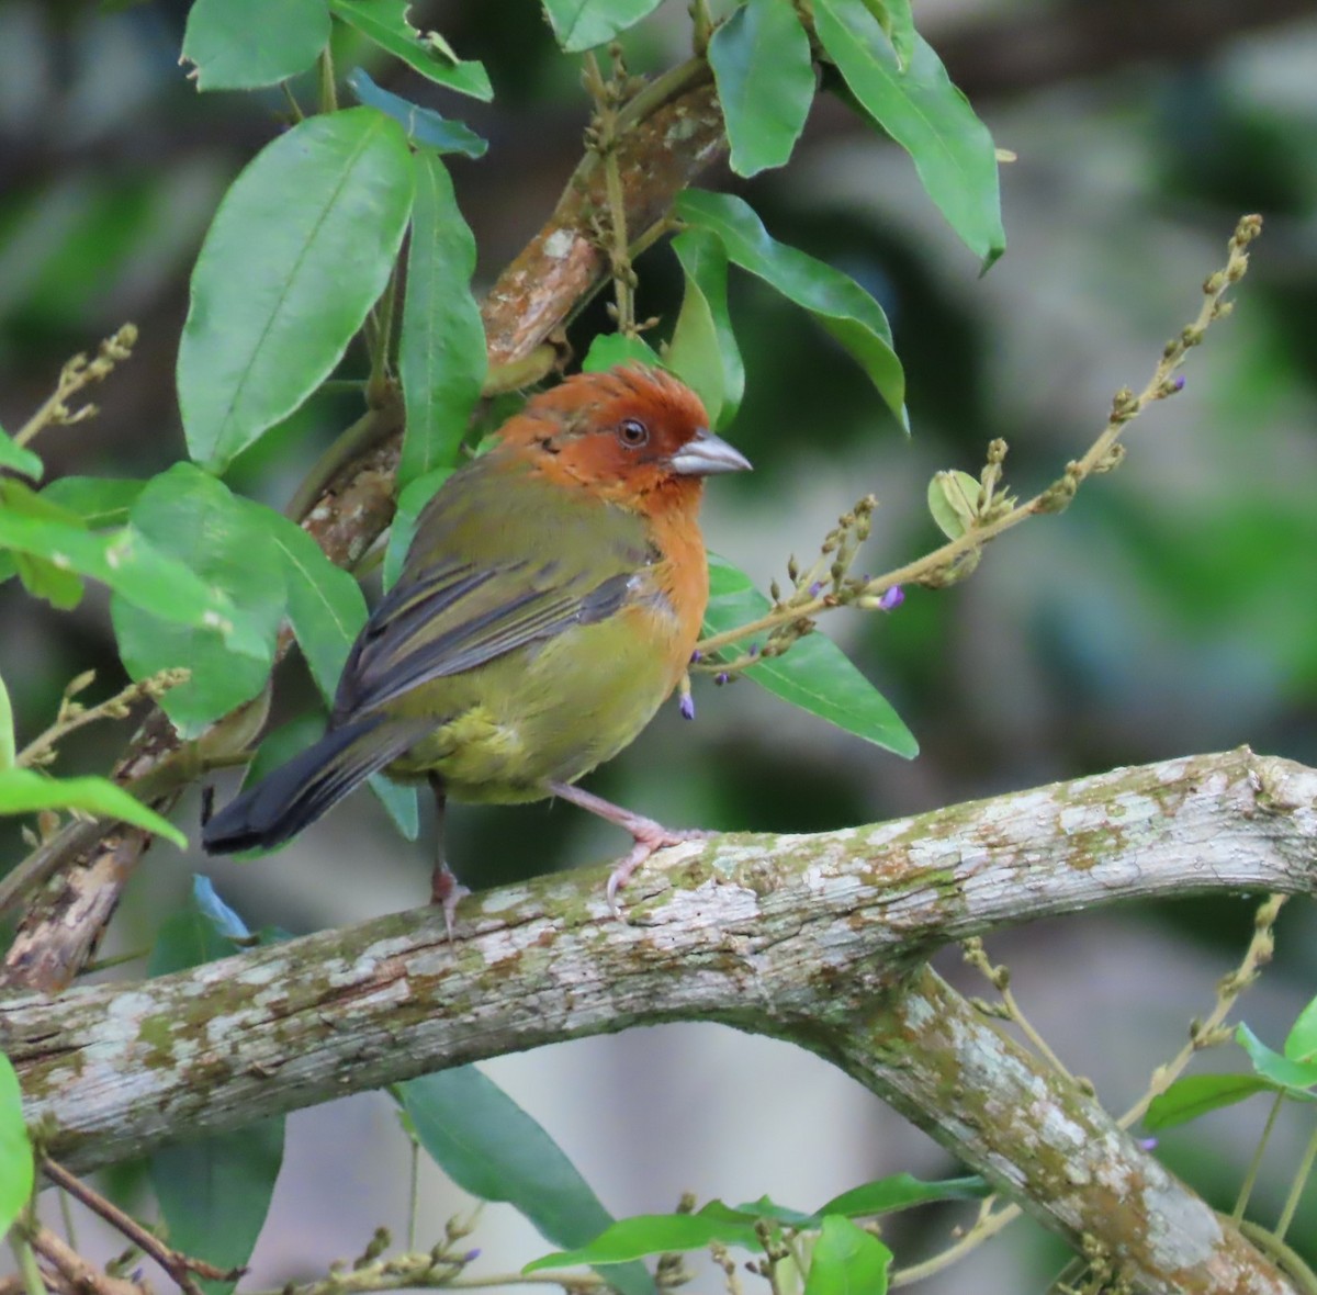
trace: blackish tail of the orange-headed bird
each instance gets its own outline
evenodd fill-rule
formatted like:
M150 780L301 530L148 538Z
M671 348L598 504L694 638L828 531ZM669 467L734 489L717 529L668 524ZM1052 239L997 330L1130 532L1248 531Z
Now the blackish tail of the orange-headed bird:
M207 854L273 850L400 756L431 729L373 715L332 729L234 797L202 830Z

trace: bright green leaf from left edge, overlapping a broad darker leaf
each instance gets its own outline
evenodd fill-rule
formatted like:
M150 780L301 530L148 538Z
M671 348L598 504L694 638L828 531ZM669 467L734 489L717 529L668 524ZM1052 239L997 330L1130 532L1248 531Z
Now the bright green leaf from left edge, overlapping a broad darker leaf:
M166 557L136 527L92 535L80 524L21 516L8 505L12 491L25 487L16 481L0 482L0 548L36 553L63 570L100 581L128 605L178 624L205 627L233 652L265 653L261 627L223 589Z

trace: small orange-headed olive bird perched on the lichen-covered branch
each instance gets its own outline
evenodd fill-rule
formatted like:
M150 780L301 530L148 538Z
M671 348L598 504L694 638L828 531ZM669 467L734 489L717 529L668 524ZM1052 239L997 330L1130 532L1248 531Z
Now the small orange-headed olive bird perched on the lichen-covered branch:
M429 784L431 898L461 885L449 800L561 797L626 829L616 896L672 830L576 783L630 746L686 678L709 599L703 478L749 461L657 366L578 373L533 395L417 518L398 581L353 643L327 731L203 827L208 854L269 850L378 771Z

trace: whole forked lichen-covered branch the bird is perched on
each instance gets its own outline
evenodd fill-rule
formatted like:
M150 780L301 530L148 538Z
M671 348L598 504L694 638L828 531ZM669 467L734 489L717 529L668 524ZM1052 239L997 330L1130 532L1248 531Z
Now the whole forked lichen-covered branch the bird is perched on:
M144 984L16 997L0 1045L51 1154L86 1170L541 1043L722 1021L831 1058L1148 1288L1283 1290L1255 1257L1230 1284L1251 1252L1229 1225L1213 1230L1064 1076L940 981L907 978L939 945L1081 908L1312 892L1314 847L1317 771L1242 748L814 837L682 844L635 879L630 922L590 869L474 897L452 946L421 909ZM1026 1115L993 1115L1008 1111ZM1119 1175L1191 1220L1196 1259L1112 1207ZM1188 1286L1163 1279L1172 1259Z

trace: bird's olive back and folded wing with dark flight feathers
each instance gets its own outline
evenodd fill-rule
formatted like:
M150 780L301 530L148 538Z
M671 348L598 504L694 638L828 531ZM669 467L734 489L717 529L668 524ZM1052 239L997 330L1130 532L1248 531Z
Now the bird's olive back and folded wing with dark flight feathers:
M562 543L552 495L532 493L515 518L473 516L462 497L435 502L440 510L428 532L417 531L427 536L424 549L414 547L403 577L353 646L335 698L336 723L429 680L611 617L639 594L635 577L652 560L640 523L630 518L601 516L590 543L574 534Z

